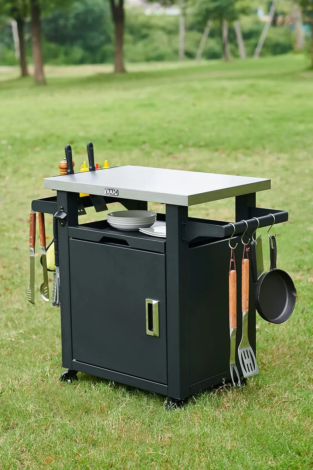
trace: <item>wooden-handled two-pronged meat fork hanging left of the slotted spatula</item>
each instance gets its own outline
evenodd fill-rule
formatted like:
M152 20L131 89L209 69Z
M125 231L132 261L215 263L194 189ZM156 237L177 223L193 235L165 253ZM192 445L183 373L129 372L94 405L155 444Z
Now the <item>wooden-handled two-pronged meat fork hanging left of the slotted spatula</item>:
M229 369L230 376L234 387L240 385L240 377L236 365L236 333L237 333L237 271L234 250L237 248L238 243L234 247L231 246L230 240L235 234L234 224L230 224L234 227L234 232L229 238L230 248L230 262L229 262L229 336L230 336L230 356L229 356ZM234 269L231 269L231 263L234 263ZM237 383L234 380L234 371L237 375Z

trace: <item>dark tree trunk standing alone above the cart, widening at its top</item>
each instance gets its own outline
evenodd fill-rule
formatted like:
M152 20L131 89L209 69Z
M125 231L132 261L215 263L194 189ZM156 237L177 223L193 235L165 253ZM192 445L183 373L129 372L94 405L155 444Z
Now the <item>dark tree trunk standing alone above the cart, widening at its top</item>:
M124 40L124 0L110 0L111 13L115 28L115 54L114 54L114 71L125 72L123 58L123 40Z

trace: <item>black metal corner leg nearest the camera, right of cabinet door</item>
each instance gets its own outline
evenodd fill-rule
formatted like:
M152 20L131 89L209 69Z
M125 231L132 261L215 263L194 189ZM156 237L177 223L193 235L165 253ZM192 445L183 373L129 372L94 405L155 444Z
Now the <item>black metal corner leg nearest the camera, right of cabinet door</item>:
M188 207L166 205L168 396L190 393Z

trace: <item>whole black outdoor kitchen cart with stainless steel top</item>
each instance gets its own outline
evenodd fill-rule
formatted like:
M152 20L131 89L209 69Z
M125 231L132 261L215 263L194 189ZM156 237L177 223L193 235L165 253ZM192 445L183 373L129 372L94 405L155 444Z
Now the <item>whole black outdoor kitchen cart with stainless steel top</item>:
M232 243L240 277L240 237L288 219L256 207L270 180L121 166L55 176L56 196L32 201L32 211L58 219L64 376L84 372L184 399L229 382L229 237L233 226L195 219L188 207L235 197ZM80 193L89 196L80 196ZM107 220L79 224L84 207L120 202L126 209L165 204L166 238L120 231ZM254 284L250 282L249 340L256 349ZM241 297L237 293L240 330ZM237 347L240 342L237 334ZM237 355L237 352L236 352ZM237 357L237 356L236 356ZM239 364L237 360L237 364ZM242 376L239 369L239 375Z

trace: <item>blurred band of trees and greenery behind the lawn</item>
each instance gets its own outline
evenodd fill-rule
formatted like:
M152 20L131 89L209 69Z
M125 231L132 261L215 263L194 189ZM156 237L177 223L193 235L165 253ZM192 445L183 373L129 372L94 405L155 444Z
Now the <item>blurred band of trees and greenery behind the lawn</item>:
M280 0L260 55L307 48L312 0ZM0 0L0 65L33 64L44 83L47 64L252 57L272 1ZM200 41L202 38L201 46ZM200 47L199 47L200 46ZM199 54L199 48L201 49ZM311 51L313 56L313 42Z

